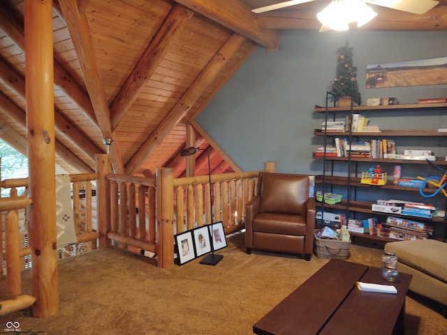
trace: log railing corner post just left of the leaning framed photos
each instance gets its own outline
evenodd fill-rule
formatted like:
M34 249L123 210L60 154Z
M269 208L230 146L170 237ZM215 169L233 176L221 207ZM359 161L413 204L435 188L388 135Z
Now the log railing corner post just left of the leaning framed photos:
M174 170L156 169L157 266L174 265Z

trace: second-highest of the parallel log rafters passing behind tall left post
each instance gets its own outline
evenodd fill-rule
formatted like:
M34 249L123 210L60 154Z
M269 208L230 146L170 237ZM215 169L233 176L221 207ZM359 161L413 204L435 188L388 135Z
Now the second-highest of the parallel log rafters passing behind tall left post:
M26 100L25 80L20 73L15 72L15 70L1 58L0 79ZM89 156L91 159L89 163L94 165L95 155L100 154L101 150L98 149L91 140L78 131L78 128L75 128L75 126L61 114L56 106L54 106L54 126L59 136L66 137L67 140L72 142L82 152Z

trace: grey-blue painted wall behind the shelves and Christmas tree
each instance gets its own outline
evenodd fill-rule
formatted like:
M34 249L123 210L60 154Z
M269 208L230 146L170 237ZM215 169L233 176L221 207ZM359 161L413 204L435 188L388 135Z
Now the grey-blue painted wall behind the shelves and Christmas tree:
M335 50L346 40L354 48L362 104L378 97L396 97L400 103L447 97L447 85L365 89L368 64L447 57L446 31L281 31L280 38L279 51L259 47L196 119L244 171L276 161L278 172L321 173L321 161L314 161L312 152L321 144L313 129L321 127L323 115L313 112L314 105L325 103L335 77ZM370 119L383 129L447 128L446 113L402 118L390 112ZM425 145L437 146L437 156L447 156L446 140L397 142L397 151Z

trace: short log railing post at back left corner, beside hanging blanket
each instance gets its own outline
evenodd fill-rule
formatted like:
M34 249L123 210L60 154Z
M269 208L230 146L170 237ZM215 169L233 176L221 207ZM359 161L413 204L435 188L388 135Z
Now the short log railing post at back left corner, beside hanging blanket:
M99 248L110 246L111 241L107 233L112 230L110 216L110 182L105 178L111 173L110 156L108 154L98 154L95 156L96 173L96 210L98 213Z

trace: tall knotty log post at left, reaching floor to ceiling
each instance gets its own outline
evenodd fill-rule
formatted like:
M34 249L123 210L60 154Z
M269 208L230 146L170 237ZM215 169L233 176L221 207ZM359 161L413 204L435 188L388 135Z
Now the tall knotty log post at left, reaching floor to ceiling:
M52 0L24 1L25 77L29 160L29 235L33 256L33 314L59 311Z

